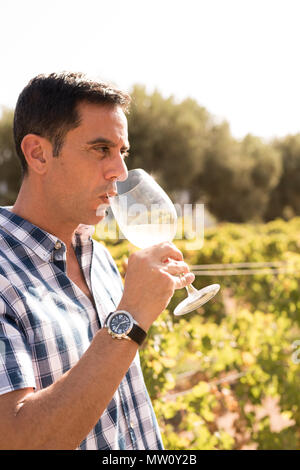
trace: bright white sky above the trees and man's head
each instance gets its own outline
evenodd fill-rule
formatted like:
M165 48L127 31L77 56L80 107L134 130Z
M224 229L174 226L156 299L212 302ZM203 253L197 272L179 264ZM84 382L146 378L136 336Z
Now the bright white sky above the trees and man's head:
M41 72L191 96L232 134L300 132L299 0L2 0L0 104Z

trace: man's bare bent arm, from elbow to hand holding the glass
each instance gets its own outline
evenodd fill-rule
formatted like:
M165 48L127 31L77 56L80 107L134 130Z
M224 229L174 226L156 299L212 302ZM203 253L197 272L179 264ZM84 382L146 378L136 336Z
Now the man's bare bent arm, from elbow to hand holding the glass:
M180 273L186 275L179 278ZM129 259L119 308L131 312L147 331L174 289L193 279L174 245L141 250ZM77 364L55 383L37 392L26 388L2 395L0 449L75 449L111 401L137 348L135 342L115 340L101 329Z

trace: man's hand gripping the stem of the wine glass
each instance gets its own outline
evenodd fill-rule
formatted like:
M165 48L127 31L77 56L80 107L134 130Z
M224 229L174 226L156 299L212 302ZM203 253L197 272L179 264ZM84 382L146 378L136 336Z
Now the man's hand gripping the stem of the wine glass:
M195 279L180 250L169 242L133 253L128 259L124 294L118 309L127 310L148 330L167 307L175 289Z

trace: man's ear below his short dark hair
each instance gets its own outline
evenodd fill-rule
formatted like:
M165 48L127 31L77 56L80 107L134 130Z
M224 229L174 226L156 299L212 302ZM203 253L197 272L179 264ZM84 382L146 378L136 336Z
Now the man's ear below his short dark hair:
M45 174L51 144L44 137L36 134L27 134L22 140L21 149L27 161L28 169L39 175Z

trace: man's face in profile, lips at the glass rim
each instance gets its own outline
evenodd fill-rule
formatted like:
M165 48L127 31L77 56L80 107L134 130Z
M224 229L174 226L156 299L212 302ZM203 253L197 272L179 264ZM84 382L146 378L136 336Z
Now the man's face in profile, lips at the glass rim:
M81 123L51 159L46 185L66 221L94 225L105 216L106 194L116 193L114 181L127 178L127 119L120 106L80 103L78 112Z

